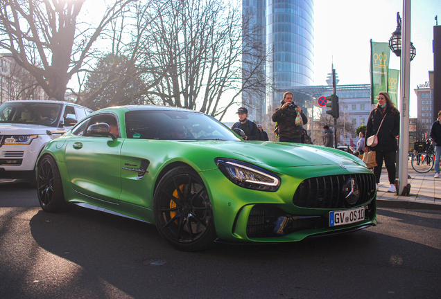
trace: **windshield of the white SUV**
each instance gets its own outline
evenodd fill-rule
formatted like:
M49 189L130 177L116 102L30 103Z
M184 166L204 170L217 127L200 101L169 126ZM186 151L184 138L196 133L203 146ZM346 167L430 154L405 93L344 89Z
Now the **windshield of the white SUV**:
M0 106L0 123L57 126L62 104L6 102Z

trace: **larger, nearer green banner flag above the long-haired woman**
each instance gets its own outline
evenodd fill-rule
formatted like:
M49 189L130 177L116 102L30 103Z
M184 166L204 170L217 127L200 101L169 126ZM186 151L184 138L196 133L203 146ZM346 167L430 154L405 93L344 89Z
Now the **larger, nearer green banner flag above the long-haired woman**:
M370 40L370 90L371 103L377 104L380 91L388 91L390 48L388 43L376 43Z

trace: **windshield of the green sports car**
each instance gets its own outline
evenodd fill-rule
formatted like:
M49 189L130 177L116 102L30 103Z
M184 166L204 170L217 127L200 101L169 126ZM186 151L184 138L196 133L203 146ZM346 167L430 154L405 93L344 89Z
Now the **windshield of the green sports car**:
M126 130L128 138L239 140L218 120L191 111L130 111L126 113Z

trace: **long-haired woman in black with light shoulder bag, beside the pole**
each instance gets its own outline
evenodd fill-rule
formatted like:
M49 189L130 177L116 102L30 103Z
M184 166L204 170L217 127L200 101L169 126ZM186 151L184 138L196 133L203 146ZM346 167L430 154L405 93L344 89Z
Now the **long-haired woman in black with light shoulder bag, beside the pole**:
M383 122L381 124L381 122ZM380 127L381 125L381 127ZM390 188L388 192L396 192L395 188L395 155L397 154L397 136L399 134L399 111L392 104L390 96L387 92L381 91L378 94L377 107L370 112L367 119L367 129L365 141L370 136L377 134L378 144L372 147L376 154L377 166L374 167L375 181L380 183L381 168L384 164L388 170ZM367 145L368 143L366 143Z

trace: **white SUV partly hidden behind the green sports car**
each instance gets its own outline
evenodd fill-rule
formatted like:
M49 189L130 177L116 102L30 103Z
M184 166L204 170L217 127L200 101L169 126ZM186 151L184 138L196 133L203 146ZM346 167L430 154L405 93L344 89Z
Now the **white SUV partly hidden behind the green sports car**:
M28 178L46 143L67 132L92 110L69 102L17 100L0 106L0 179Z

